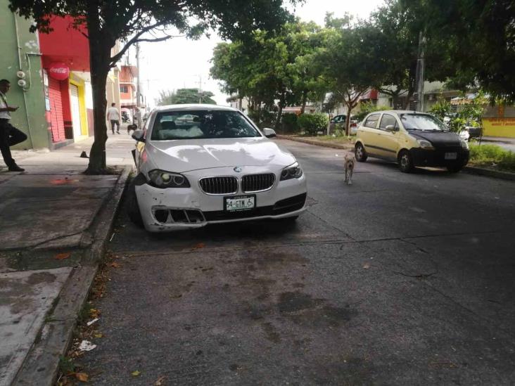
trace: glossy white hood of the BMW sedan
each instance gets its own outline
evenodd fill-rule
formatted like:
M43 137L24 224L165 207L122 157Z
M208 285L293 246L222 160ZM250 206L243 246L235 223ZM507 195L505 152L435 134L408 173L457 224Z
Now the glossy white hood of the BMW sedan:
M295 157L265 137L151 141L147 154L159 169L189 172L227 166L288 166Z

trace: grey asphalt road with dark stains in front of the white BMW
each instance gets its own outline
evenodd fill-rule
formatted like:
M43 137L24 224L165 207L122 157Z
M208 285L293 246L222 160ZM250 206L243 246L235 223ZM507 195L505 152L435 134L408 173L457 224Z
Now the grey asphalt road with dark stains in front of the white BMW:
M94 385L513 385L515 184L281 141L293 226L152 235L124 213ZM141 371L138 377L132 371Z

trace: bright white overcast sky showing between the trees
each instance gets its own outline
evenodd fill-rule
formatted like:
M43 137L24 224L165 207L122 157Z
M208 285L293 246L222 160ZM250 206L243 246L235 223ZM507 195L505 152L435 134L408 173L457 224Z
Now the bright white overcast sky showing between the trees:
M306 0L303 6L296 7L295 15L324 25L326 12L333 12L336 17L348 12L367 18L382 3L383 0ZM198 88L202 82L202 89L212 91L218 104L227 105L227 95L220 91L218 82L209 77L212 49L220 41L220 37L212 34L210 38L197 41L177 37L160 43L141 44L141 86L148 104L154 105L160 90Z

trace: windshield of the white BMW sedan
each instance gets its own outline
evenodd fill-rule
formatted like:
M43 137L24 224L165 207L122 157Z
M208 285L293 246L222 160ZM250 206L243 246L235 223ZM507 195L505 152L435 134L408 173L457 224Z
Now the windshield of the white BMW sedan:
M177 110L158 112L151 140L244 138L261 136L237 111Z

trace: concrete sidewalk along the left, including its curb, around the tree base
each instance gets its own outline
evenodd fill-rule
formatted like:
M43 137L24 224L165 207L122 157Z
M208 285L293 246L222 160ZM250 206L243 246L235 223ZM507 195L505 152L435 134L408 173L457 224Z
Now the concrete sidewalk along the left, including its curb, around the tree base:
M87 296L132 168L134 140L108 139L116 174L82 174L92 139L0 163L0 385L49 385Z

